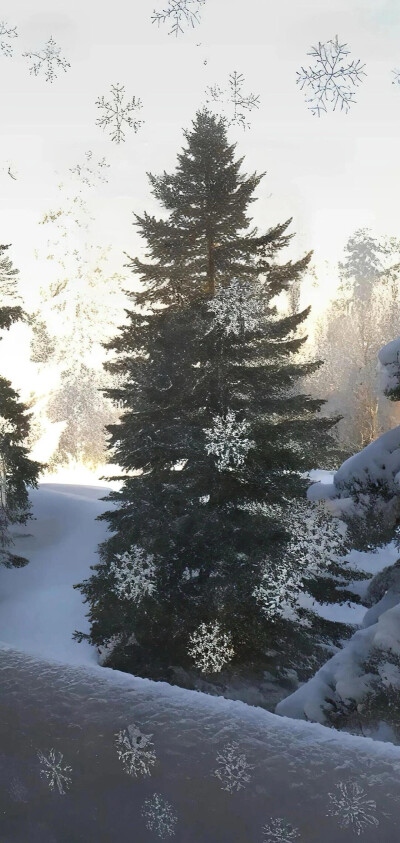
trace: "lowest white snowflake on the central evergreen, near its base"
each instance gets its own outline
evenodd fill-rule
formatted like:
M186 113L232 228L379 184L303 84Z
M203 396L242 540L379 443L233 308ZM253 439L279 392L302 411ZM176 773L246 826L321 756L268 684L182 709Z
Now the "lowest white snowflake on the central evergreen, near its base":
M201 623L189 643L188 654L202 673L219 673L234 656L231 635L219 623Z

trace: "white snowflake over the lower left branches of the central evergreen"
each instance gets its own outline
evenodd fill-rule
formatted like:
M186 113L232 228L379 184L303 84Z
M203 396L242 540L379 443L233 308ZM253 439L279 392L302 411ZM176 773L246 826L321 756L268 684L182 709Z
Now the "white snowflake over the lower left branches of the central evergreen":
M117 553L110 564L110 571L115 577L114 591L123 600L139 603L155 591L154 556L137 544L125 553Z

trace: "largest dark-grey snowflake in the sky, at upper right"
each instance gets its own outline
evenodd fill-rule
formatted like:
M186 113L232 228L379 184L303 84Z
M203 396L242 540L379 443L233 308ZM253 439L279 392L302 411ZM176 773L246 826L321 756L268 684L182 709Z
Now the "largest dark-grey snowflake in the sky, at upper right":
M340 44L336 35L325 44L319 42L307 54L314 62L297 71L296 81L306 92L306 103L312 114L320 117L337 108L347 113L356 102L355 89L366 76L365 64L360 59L348 61L349 53L347 44Z

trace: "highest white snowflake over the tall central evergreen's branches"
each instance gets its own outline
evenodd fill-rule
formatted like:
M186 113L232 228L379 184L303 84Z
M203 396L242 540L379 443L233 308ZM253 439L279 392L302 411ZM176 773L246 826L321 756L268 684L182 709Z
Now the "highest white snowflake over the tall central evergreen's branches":
M208 310L214 314L214 323L226 335L237 337L257 330L263 317L260 293L254 284L236 278L226 287L220 286L208 304Z

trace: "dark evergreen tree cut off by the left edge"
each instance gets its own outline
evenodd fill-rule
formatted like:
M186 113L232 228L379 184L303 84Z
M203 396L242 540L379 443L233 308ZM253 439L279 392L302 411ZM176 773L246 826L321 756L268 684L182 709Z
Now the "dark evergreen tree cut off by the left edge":
M0 329L9 329L24 318L18 300L18 270L0 246ZM37 486L41 466L29 459L25 440L29 415L11 383L0 376L0 563L20 567L27 559L10 550L10 525L24 524L29 518L28 488Z

